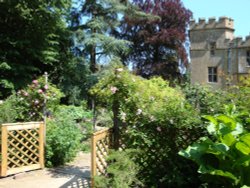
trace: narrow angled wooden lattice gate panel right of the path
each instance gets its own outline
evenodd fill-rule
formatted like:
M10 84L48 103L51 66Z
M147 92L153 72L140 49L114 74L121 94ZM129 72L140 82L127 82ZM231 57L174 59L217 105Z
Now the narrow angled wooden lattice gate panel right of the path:
M93 178L96 175L106 175L107 161L106 157L112 148L112 129L103 129L95 132L91 138L91 178L93 187Z

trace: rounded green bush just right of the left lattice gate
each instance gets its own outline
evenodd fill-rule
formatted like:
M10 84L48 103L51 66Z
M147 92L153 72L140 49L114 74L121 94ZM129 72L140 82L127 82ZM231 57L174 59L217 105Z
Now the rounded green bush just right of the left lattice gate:
M73 117L67 111L56 111L47 123L46 166L73 160L81 147L81 139L81 129Z

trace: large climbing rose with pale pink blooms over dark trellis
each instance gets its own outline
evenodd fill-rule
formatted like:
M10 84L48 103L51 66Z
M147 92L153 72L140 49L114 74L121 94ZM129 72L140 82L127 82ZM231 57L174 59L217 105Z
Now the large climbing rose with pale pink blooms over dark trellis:
M103 107L118 107L122 144L140 151L135 162L146 186L199 183L194 164L178 156L179 149L203 135L198 113L180 91L161 78L146 80L117 67L91 93Z

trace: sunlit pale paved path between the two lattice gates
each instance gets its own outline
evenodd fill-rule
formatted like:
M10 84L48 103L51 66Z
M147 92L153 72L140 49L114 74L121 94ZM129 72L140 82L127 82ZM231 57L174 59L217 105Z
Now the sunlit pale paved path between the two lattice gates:
M90 154L79 153L63 167L1 178L1 188L90 188Z

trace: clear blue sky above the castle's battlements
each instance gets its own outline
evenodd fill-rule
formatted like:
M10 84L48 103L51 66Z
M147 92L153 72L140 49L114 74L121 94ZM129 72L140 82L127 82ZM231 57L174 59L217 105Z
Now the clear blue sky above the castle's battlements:
M250 34L250 0L182 0L193 18L227 16L234 19L235 36ZM215 6L217 5L217 6Z

